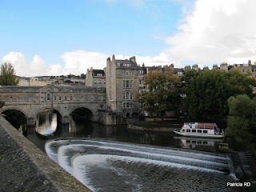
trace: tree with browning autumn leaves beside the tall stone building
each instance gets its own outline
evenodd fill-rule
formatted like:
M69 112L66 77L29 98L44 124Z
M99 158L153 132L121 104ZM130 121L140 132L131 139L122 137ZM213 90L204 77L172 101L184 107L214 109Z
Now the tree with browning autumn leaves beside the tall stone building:
M178 109L181 81L170 68L166 67L166 73L159 70L150 72L145 82L149 91L139 95L144 110L151 115L157 114L163 120L166 111Z

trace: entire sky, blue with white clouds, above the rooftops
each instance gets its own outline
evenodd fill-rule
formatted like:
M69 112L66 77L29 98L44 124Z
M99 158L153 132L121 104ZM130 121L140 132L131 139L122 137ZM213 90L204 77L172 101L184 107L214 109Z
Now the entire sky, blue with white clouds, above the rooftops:
M200 67L256 61L255 0L0 0L0 59L18 76L86 74L106 58Z

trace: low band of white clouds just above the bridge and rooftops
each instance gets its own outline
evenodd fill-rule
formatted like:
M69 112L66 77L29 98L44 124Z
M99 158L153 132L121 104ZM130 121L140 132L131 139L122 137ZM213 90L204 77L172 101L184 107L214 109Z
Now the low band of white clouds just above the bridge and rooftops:
M115 58L129 59L131 56L117 54L115 55ZM103 69L106 67L106 58L110 57L110 55L86 50L74 50L65 52L60 57L64 62L64 66L58 63L51 65L46 64L45 60L38 54L35 54L32 61L28 62L25 55L19 52L10 52L9 54L6 54L6 56L2 58L2 62L12 63L18 76L78 75L86 74L87 69L90 69L90 67L93 67L94 69ZM161 53L155 56L136 56L136 61L140 65L145 63L146 66L165 66L174 63L175 67L182 67L180 62L172 60L166 53Z

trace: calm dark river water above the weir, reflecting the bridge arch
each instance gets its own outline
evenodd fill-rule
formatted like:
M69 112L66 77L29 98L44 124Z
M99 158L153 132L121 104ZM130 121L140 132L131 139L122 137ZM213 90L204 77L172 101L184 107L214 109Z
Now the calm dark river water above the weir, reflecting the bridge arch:
M126 126L104 126L95 122L88 122L77 116L70 118L69 125L62 125L57 122L58 114L47 110L37 115L36 127L29 128L26 135L41 150L44 150L44 143L49 138L59 137L90 137L108 138L114 141L134 142L150 144L155 146L175 146L196 150L216 151L218 139L184 138L176 137L172 133L145 132L140 130L127 130Z

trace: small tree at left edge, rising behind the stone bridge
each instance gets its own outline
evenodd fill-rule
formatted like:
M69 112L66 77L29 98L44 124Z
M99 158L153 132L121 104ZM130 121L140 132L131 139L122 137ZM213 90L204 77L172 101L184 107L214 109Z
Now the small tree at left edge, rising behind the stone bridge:
M10 63L3 63L0 70L0 85L1 86L17 86L19 79L17 78L14 66Z

